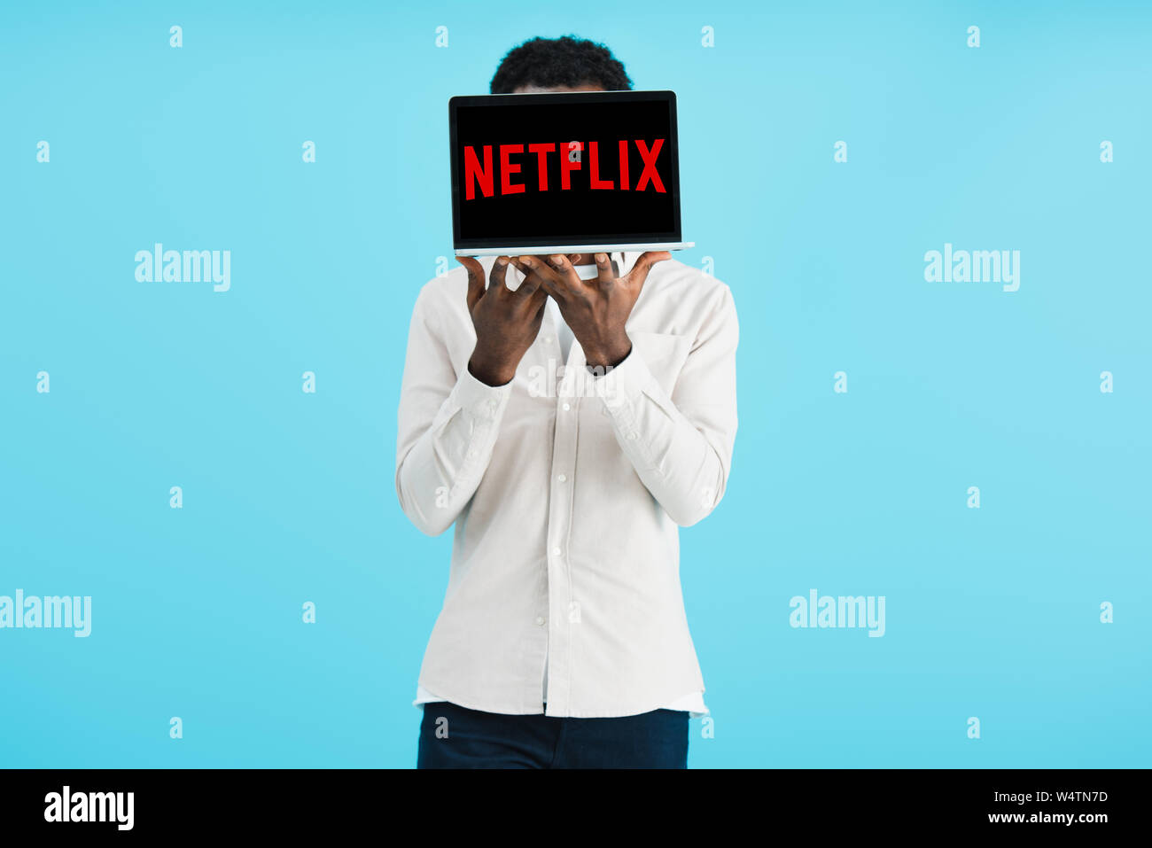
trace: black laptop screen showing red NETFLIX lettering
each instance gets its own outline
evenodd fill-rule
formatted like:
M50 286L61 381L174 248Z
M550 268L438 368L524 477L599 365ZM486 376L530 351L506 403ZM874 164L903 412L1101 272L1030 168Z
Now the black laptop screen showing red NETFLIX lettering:
M680 241L670 91L454 97L454 247Z

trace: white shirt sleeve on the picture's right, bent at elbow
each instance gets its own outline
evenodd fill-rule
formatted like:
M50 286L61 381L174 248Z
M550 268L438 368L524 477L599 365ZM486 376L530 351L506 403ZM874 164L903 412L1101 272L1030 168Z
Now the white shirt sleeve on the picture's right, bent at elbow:
M621 450L681 527L707 516L723 497L736 439L736 308L727 286L712 300L672 395L641 353L598 379Z

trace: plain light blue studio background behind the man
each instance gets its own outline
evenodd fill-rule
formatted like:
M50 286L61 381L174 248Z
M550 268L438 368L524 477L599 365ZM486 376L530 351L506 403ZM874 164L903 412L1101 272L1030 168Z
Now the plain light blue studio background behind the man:
M93 630L0 630L0 765L415 763L450 533L397 506L395 412L446 101L566 32L679 93L679 258L740 312L690 764L1150 765L1152 12L1008 6L6 3L0 595ZM154 242L232 290L137 282ZM945 242L1020 290L925 282ZM813 588L886 635L790 628Z

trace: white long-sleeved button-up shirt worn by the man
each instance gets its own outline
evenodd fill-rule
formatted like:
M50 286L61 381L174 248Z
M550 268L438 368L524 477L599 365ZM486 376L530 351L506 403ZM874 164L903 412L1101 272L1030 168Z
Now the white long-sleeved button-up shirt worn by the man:
M624 253L621 272L636 257ZM520 280L509 267L509 285ZM703 692L677 525L711 513L728 479L732 293L658 263L619 366L590 374L578 341L563 363L546 312L516 377L493 387L468 371L467 288L457 267L420 290L400 399L400 504L425 533L455 523L419 688L485 712L575 718Z

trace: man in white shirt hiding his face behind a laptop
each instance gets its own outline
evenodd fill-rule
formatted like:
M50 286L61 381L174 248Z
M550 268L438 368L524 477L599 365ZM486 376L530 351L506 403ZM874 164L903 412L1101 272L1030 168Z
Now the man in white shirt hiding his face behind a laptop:
M566 37L510 51L491 91L630 88ZM418 766L683 768L707 707L677 525L728 479L732 294L665 251L461 264L417 298L396 440L404 513L456 528Z

